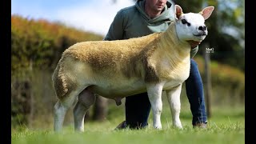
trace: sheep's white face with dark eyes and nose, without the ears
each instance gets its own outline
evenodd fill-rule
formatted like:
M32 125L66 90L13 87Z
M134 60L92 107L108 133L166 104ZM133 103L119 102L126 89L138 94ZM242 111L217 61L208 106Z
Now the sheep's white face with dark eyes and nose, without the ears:
M182 14L176 23L178 38L181 40L201 42L208 34L205 19L201 14Z

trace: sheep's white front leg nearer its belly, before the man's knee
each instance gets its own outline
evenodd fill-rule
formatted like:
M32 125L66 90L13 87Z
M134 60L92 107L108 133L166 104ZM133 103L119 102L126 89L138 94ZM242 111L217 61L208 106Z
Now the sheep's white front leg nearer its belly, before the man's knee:
M155 129L161 130L161 113L162 113L162 86L163 84L148 84L146 86L147 94L150 99L151 108L153 110L153 126Z

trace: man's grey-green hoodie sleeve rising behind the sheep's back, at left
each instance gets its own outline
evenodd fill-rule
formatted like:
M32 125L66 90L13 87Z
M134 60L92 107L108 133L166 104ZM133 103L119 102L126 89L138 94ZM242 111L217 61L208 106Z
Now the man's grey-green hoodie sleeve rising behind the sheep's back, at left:
M110 29L108 30L106 37L103 40L112 41L123 39L124 33L124 15L122 14L122 10L119 10L118 13L114 17L114 21L110 25Z

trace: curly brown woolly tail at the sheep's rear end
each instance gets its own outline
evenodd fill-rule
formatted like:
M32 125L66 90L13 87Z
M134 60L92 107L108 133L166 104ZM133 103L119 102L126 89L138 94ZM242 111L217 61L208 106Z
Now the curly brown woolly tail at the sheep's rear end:
M58 66L56 67L56 69L54 70L54 74L52 75L55 94L58 98L62 98L68 91L68 87L66 84L66 75L63 72L62 62L63 59L58 62Z

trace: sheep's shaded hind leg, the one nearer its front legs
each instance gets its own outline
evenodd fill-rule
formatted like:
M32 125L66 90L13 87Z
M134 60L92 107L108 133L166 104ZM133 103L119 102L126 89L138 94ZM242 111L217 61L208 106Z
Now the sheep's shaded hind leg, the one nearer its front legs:
M92 106L95 102L94 93L92 93L87 88L82 90L78 95L78 102L74 107L74 129L78 131L84 131L84 117L86 111Z

